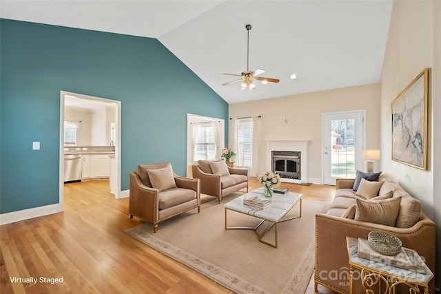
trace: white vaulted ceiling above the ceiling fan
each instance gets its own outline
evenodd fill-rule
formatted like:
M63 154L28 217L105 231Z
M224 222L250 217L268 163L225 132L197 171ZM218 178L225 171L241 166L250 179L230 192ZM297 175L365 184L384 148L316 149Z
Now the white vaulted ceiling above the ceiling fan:
M392 0L0 1L0 17L157 38L228 103L378 83ZM222 86L247 69L280 83ZM292 73L298 78L289 79ZM356 98L356 97L354 97Z

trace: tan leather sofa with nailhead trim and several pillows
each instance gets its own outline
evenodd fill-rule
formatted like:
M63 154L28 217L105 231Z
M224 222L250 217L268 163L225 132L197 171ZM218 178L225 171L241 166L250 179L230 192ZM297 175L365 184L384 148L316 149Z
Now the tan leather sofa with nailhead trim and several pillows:
M346 237L367 239L368 233L375 230L396 235L402 246L416 250L436 276L435 223L420 211L420 202L384 176L378 179L380 187L379 190L375 188L378 193L373 189L374 195L367 193L366 196L360 193L360 189L375 184L362 186L369 181L360 182L358 191L353 191L354 180L337 180L336 197L331 208L327 213L316 214L316 287L321 284L338 293L349 293ZM369 199L376 195L384 199ZM354 274L356 276L358 273ZM365 293L360 280L355 286L355 293ZM420 289L420 293L424 291ZM429 293L434 293L434 279L429 285Z

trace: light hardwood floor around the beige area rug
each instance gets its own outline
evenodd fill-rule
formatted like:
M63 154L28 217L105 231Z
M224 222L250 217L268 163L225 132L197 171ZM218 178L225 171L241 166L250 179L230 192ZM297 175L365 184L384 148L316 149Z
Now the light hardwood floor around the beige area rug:
M250 189L258 187L252 179ZM327 202L335 191L280 187ZM129 218L128 203L114 198L108 181L70 183L62 213L1 226L0 293L232 293L124 233L140 224ZM37 282L11 282L14 277ZM50 280L56 278L63 282ZM313 280L307 293L314 293ZM333 292L319 286L318 293Z

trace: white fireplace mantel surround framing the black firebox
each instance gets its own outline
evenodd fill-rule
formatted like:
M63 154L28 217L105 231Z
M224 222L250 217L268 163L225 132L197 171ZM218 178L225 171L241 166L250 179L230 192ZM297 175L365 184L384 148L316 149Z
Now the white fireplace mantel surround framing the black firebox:
M308 144L311 140L265 140L267 143L266 169L272 170L271 151L300 151L302 163L300 165L300 180L282 178L282 182L308 182Z

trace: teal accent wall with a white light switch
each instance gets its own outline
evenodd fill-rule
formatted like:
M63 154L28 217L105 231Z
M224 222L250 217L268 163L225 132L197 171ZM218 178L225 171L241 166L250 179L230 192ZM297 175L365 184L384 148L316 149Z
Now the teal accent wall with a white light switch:
M59 202L60 91L121 101L121 190L142 163L185 176L187 113L228 129L228 104L156 39L0 21L0 213Z

